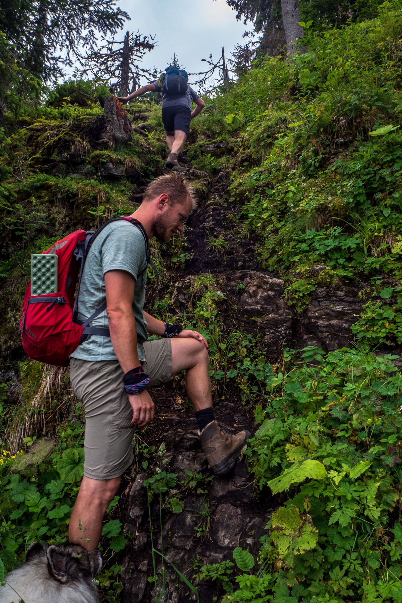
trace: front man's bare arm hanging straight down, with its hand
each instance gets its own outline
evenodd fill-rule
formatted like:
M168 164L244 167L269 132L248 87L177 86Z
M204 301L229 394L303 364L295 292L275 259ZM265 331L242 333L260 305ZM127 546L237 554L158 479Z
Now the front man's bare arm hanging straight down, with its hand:
M113 350L124 373L140 366L137 352L137 326L133 314L134 277L125 270L105 273L106 314ZM143 427L154 418L154 403L148 391L128 396L133 408L133 425Z

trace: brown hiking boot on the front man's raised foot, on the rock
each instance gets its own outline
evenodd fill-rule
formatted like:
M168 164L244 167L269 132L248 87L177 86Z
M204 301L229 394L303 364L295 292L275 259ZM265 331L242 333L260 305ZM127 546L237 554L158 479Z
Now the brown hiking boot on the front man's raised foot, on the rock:
M242 447L251 437L248 431L228 435L218 427L216 421L209 423L198 435L207 461L216 475L230 471Z

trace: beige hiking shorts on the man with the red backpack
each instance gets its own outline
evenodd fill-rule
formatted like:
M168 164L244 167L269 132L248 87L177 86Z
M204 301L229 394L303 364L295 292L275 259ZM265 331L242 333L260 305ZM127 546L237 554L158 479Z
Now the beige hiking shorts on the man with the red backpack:
M148 387L169 381L171 340L146 341L143 348L142 368L151 377ZM123 387L123 375L117 360L70 360L71 385L83 402L86 415L84 475L87 478L118 478L133 463L136 428L131 424L133 409Z

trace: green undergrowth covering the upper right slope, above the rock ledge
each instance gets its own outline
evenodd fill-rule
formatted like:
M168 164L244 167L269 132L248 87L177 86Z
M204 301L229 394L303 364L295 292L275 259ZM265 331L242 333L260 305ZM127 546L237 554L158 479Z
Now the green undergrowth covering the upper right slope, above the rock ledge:
M401 4L340 30L307 25L305 54L266 57L213 101L240 218L297 312L316 285L402 275Z

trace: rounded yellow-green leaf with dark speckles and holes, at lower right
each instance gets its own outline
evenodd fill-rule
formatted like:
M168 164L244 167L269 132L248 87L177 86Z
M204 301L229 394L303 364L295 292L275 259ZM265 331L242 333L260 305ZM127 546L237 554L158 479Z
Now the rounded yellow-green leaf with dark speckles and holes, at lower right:
M291 505L272 513L271 540L281 560L292 567L296 555L315 548L318 531L309 515L302 515L297 507Z

